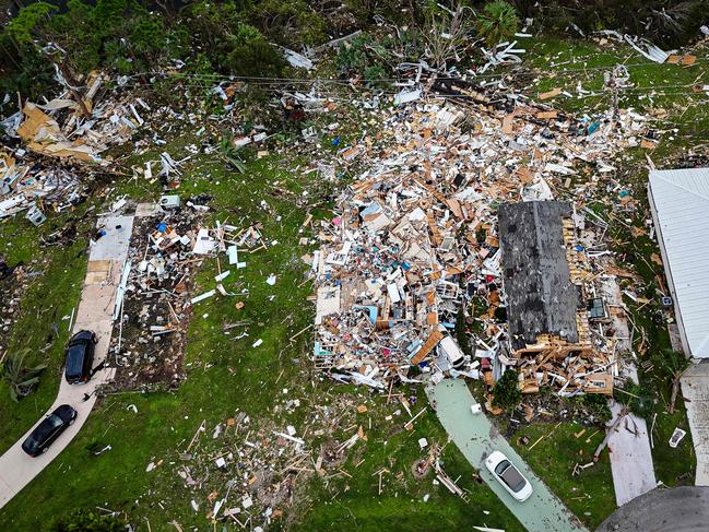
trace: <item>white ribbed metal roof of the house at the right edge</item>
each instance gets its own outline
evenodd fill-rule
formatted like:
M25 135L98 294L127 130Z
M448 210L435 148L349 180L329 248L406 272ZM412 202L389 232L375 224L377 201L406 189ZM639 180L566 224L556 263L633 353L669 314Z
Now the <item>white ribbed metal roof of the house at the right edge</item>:
M709 358L709 168L652 170L648 199L682 346Z

